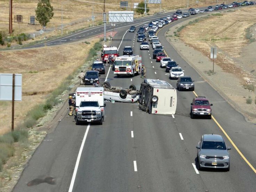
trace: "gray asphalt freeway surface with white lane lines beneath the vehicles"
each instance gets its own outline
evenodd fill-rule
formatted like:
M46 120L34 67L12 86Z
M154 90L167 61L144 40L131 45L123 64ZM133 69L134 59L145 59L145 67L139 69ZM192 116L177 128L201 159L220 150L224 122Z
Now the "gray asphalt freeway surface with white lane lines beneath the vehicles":
M158 30L157 36L168 56L195 81L195 92L177 91L176 114L148 114L139 110L137 103L107 102L102 126L76 126L65 111L62 121L35 151L14 192L255 192L255 125L246 122L165 40L165 31L173 25L175 22ZM136 33L124 35L127 28L118 29L112 46L120 46L120 55L124 46L134 46L134 53L142 56L147 78L176 87L176 80L170 80L152 59L151 47L139 50ZM101 75L102 83L105 79L112 86L134 84L137 89L143 81L139 76L117 78L111 69L108 75ZM190 118L195 95L206 96L213 103L213 119ZM232 147L229 172L198 171L195 167L195 146L203 134L211 133L222 135ZM27 186L33 179L49 176L55 178L55 184Z

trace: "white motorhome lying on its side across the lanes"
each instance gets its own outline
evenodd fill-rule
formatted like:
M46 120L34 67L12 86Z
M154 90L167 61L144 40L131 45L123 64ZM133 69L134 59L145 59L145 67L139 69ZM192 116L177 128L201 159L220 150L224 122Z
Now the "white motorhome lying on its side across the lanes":
M145 79L141 83L139 108L151 114L175 114L177 90L170 83L156 79Z

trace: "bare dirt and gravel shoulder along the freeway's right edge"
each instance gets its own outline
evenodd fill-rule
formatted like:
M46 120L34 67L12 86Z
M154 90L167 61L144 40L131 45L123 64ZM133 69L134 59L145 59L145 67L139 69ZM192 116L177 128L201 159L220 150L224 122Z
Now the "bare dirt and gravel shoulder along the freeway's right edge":
M195 18L189 19L175 25L175 27L171 27L165 34L167 41L187 63L189 63L216 91L218 91L220 95L222 95L227 102L234 107L234 109L241 112L247 121L256 122L256 105L254 104L255 93L254 91L249 91L248 89L243 88L241 78L238 77L236 73L246 72L238 65L227 62L229 58L232 59L232 56L229 55L229 58L225 58L226 62L223 61L225 62L228 70L223 69L222 65L215 64L215 74L212 74L210 72L213 70L213 62L209 59L210 48L208 50L208 54L205 54L183 42L181 38L174 36L174 32L177 31L179 27L193 21L194 19ZM196 46L198 41L193 43ZM218 49L218 54L221 53L221 50ZM252 104L246 103L246 99L249 97L253 100Z

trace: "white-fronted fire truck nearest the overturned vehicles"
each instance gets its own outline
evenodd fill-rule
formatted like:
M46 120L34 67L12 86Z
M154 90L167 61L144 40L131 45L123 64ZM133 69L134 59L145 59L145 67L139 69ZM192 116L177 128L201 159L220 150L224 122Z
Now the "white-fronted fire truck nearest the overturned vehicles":
M139 55L123 55L115 59L114 74L119 77L120 75L130 75L134 77L135 74L141 73L142 60Z

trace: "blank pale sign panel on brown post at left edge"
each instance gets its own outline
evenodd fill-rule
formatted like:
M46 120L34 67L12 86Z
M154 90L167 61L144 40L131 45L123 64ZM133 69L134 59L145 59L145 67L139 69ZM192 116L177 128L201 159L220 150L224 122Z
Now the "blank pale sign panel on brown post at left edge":
M0 101L13 100L13 74L0 73ZM14 101L21 101L22 74L15 74Z

